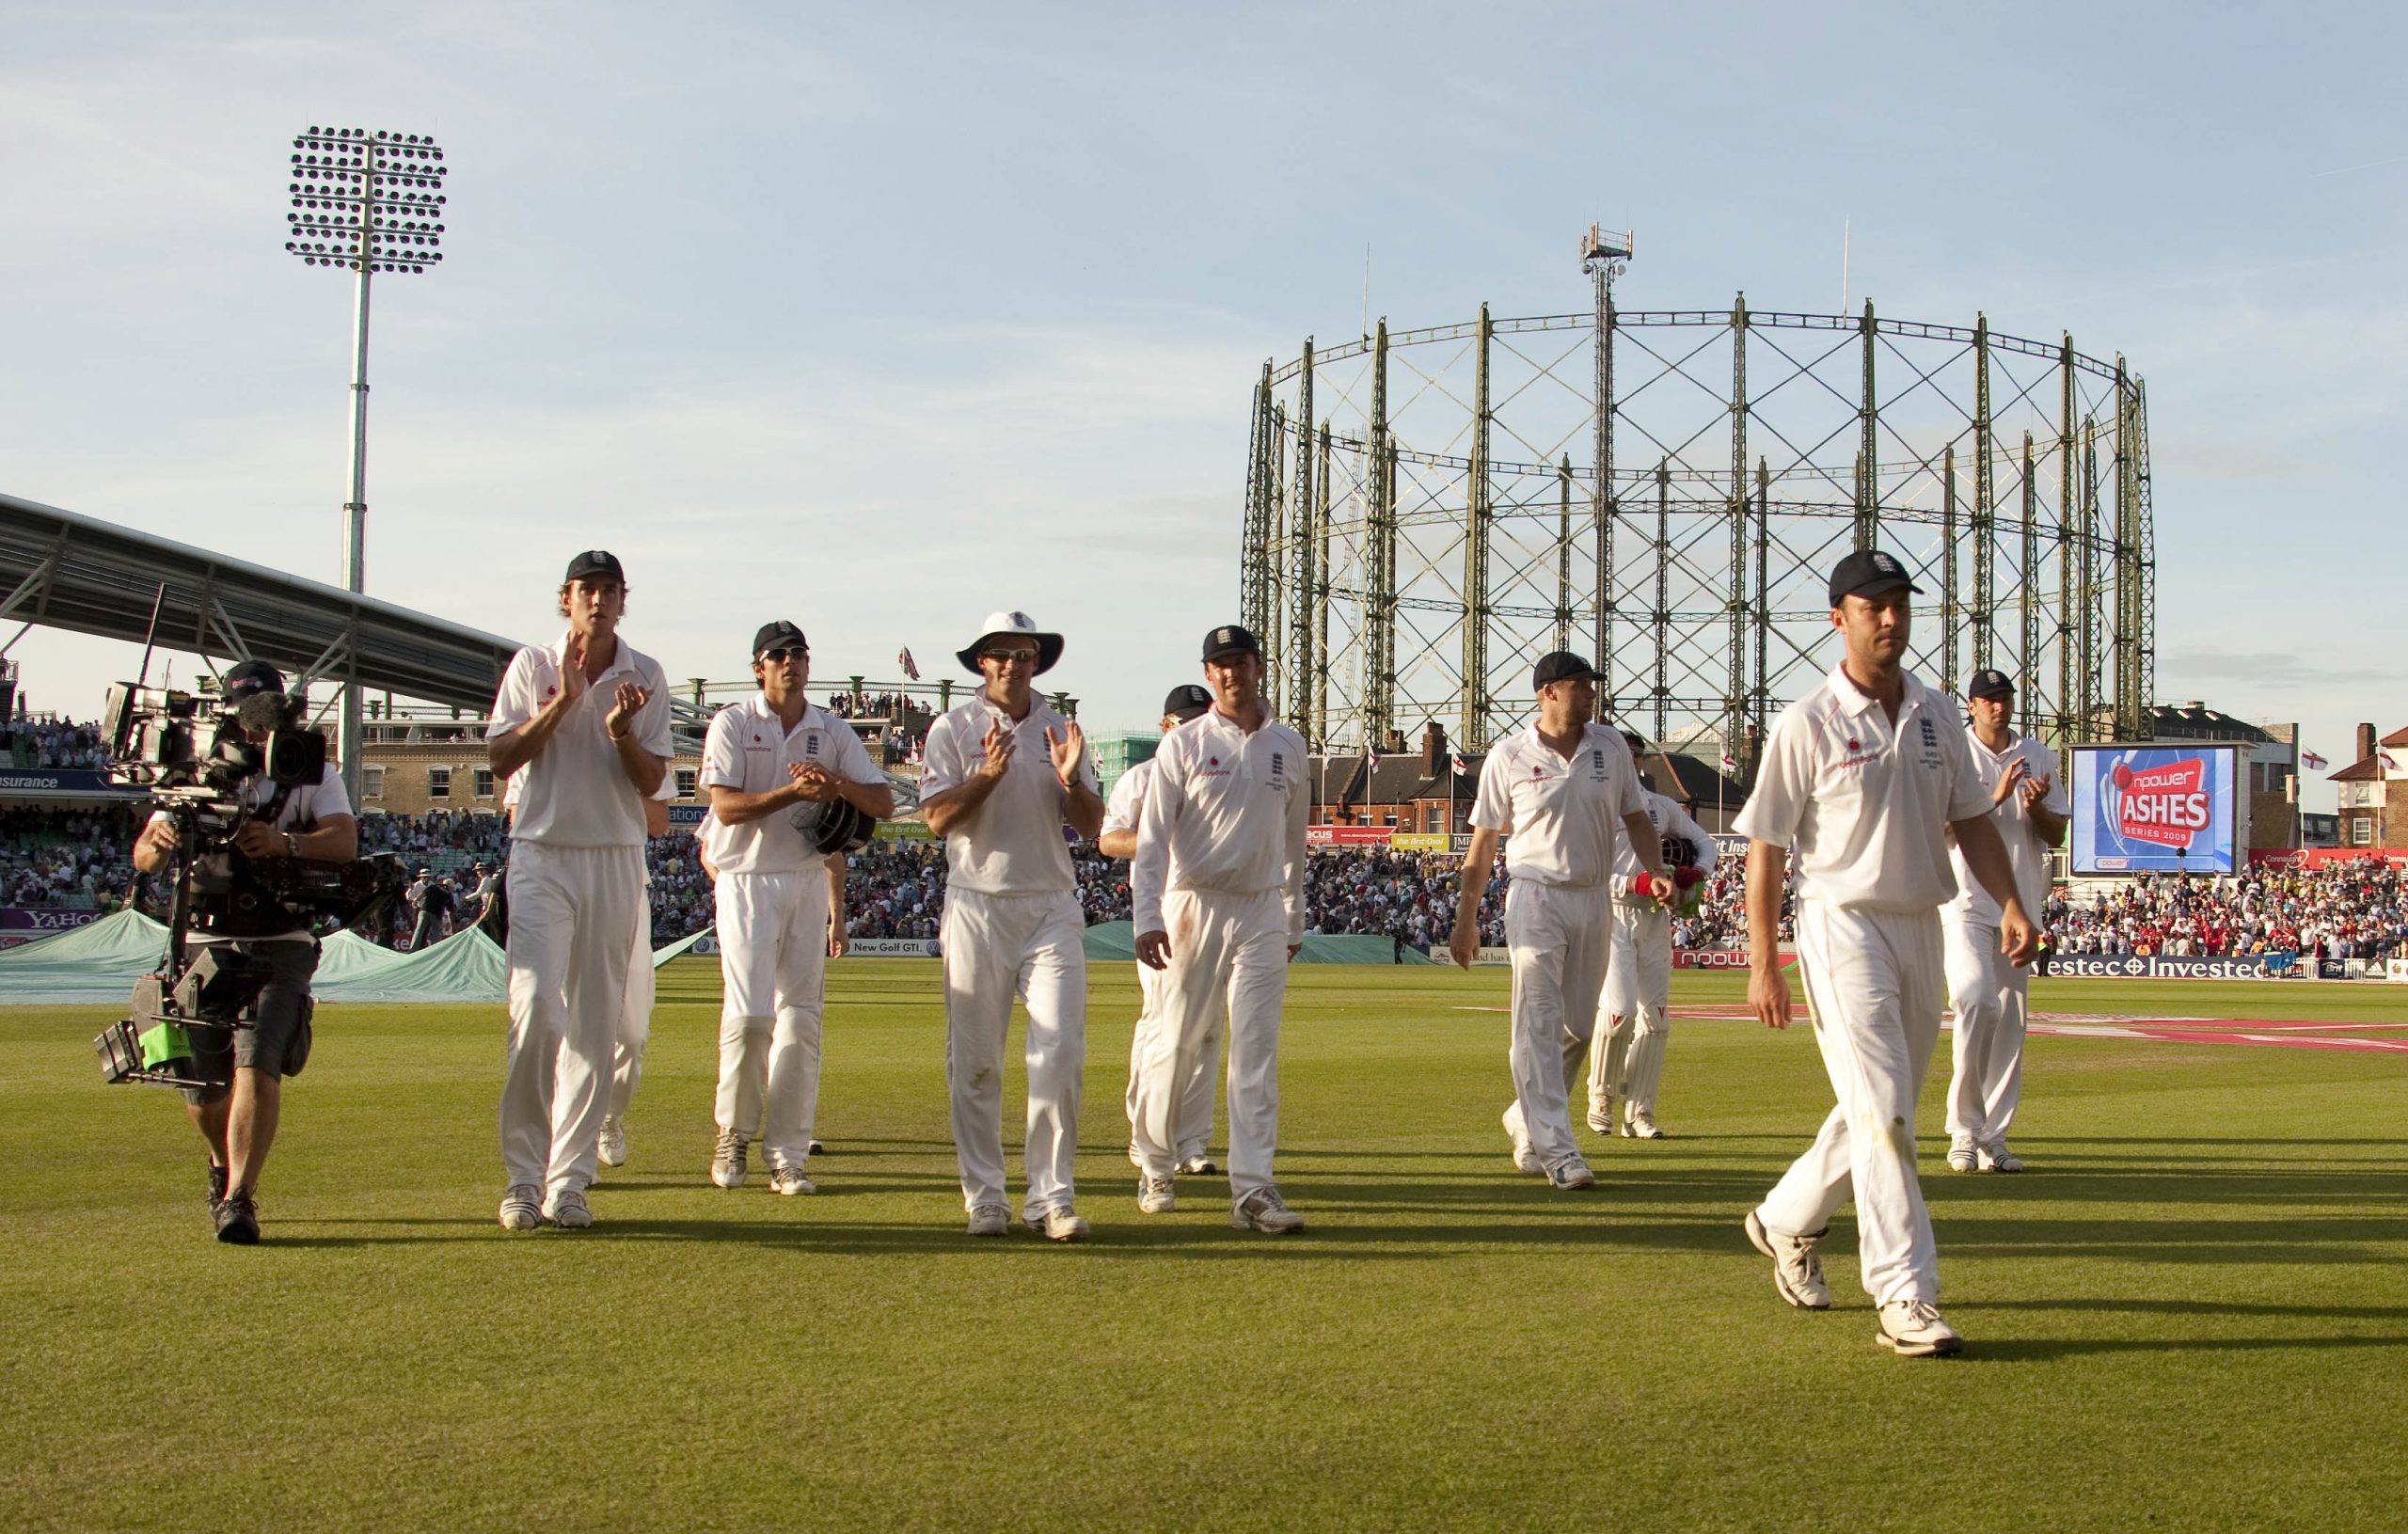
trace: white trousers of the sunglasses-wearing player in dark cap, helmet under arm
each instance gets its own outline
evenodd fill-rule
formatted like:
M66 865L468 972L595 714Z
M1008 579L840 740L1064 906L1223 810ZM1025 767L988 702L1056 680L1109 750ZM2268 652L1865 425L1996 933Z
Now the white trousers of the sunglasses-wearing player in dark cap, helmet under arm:
M720 1129L771 1168L811 1158L828 970L828 874L720 874Z

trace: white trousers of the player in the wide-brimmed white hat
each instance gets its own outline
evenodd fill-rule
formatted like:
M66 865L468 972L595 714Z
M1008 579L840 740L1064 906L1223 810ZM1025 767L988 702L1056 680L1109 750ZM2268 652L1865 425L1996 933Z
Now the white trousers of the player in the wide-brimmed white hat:
M1086 915L1074 891L944 893L944 1074L954 1093L961 1204L1004 1204L1004 1040L1011 997L1028 1004L1028 1199L1069 1209L1086 1069Z

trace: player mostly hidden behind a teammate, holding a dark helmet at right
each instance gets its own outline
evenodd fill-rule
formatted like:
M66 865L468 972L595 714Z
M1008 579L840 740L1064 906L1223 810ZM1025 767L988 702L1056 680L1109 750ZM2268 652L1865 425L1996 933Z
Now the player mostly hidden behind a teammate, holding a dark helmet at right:
M1640 754L1635 734L1625 734ZM1686 809L1659 795L1640 773L1647 821L1657 828L1674 898L1714 872L1719 848ZM1630 1139L1664 1139L1654 1122L1657 1088L1664 1084L1664 1048L1671 1040L1671 910L1637 889L1645 869L1623 843L1613 862L1613 956L1606 963L1604 1038L1589 1055L1589 1129Z

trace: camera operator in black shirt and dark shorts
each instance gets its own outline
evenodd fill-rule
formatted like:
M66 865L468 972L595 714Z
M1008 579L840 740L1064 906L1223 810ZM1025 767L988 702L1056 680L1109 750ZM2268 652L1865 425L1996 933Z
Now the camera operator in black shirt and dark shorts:
M262 660L226 672L222 696L236 706L243 734L265 744L284 703L284 677ZM236 787L246 819L234 833L238 860L306 857L352 862L359 855L359 821L342 792L342 766L327 759L315 785L279 790L265 771ZM135 838L135 867L144 874L169 865L176 824L154 814ZM246 958L265 961L267 985L253 1004L248 1028L193 1026L193 1057L209 1086L185 1088L185 1113L209 1141L209 1219L217 1238L253 1245L260 1238L258 1185L267 1149L277 1137L284 1076L308 1062L311 975L318 973L318 939L308 920L260 937L195 932L195 944L234 944ZM231 1086L226 1086L231 1084Z

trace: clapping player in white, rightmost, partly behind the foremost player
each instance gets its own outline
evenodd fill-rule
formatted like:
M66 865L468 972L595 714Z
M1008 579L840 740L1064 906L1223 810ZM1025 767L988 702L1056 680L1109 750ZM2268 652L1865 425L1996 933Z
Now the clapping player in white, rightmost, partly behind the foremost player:
M2015 893L2025 913L2049 896L2049 848L2066 840L2073 807L2056 783L2056 751L2015 734L2015 684L2006 672L1979 669L1965 689L1965 744L1989 787L1991 824L2015 869ZM1948 1168L1958 1173L2020 1173L2023 1161L2006 1149L2006 1127L2023 1103L2023 1026L2028 1021L2030 970L1999 951L1999 903L1950 850L1958 896L1941 908L1948 942L1948 1007L1955 1011L1948 1072Z

